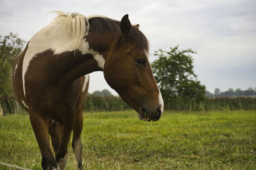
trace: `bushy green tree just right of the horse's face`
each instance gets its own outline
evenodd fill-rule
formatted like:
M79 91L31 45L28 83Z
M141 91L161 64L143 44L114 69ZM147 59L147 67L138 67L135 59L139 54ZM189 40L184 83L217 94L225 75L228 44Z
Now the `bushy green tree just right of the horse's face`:
M152 71L161 90L164 106L175 98L195 99L197 103L205 98L205 86L196 79L193 71L193 59L188 53L191 49L178 50L179 45L170 48L170 52L156 51L157 60L152 62Z

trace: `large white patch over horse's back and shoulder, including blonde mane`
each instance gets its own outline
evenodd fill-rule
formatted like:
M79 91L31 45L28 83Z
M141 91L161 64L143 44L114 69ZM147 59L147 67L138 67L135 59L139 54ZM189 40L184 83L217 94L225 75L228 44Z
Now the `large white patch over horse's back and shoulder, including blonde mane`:
M61 11L56 11L56 13L59 16L50 25L36 32L29 40L22 65L22 82L25 97L25 74L33 57L46 50L52 50L54 54L74 51L81 46L84 36L88 34L89 22L83 15L77 13L67 15Z

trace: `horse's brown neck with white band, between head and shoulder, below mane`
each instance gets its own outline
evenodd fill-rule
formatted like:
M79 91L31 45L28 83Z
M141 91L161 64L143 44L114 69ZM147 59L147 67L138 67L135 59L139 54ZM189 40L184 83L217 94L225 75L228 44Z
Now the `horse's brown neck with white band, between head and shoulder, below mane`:
M97 34L88 34L82 45L73 53L74 62L67 73L63 76L62 82L68 83L77 78L92 73L94 71L103 71L106 57L109 52L109 44L113 41L113 36L98 36ZM75 61L74 61L75 60Z

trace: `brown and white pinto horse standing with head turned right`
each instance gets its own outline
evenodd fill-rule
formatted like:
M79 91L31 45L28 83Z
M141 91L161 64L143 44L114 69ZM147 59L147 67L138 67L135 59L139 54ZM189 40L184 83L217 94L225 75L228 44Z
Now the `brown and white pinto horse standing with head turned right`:
M72 131L77 167L83 169L81 131L90 73L103 71L108 85L140 120L159 120L164 103L148 61L148 40L128 15L118 21L56 13L17 56L12 85L17 101L29 113L42 169L66 168Z

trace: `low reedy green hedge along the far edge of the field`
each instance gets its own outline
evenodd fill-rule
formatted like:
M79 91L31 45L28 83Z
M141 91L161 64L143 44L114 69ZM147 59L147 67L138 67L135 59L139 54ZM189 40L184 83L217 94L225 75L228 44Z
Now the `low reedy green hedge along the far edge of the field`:
M0 98L0 109L3 115L12 113L24 113L25 111L17 103L15 97L4 96ZM204 102L197 103L195 100L172 99L164 102L165 110L256 110L256 98L253 97L216 97L206 98ZM0 110L0 112L1 112ZM131 110L128 104L120 97L88 96L84 104L84 111L120 111Z

